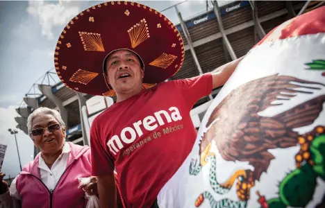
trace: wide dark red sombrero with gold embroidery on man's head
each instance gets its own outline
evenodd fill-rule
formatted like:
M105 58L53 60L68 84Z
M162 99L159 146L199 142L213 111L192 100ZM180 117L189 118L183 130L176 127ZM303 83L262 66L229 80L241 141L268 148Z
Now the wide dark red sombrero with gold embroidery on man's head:
M167 17L140 3L110 1L88 8L65 26L54 55L56 72L70 89L115 96L104 78L103 61L117 49L142 58L144 88L173 76L184 60L182 37Z

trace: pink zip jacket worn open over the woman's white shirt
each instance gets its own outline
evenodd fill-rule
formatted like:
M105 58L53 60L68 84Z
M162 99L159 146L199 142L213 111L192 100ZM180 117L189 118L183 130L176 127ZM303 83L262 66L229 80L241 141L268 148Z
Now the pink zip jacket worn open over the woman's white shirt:
M91 175L90 148L68 143L71 152L67 167L53 191L49 191L40 179L38 156L24 166L16 183L22 208L78 208L87 205L84 191L78 189L78 177Z

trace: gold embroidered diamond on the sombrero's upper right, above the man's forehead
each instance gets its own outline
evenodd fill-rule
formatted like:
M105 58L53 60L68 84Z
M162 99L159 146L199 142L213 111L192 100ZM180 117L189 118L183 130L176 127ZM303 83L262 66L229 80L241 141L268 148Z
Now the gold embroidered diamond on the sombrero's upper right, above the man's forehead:
M135 49L136 46L147 40L150 37L148 31L148 25L146 19L141 19L141 21L135 24L128 30L128 36L130 36L131 46Z

